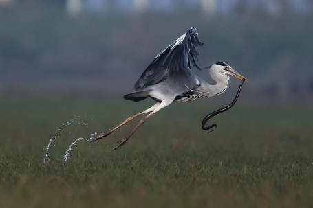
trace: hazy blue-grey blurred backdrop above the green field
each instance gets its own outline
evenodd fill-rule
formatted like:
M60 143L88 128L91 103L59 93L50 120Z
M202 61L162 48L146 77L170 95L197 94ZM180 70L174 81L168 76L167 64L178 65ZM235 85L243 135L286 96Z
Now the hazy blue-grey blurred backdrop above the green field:
M312 22L311 0L0 0L0 95L121 98L196 27L203 67L250 79L243 100L312 101Z

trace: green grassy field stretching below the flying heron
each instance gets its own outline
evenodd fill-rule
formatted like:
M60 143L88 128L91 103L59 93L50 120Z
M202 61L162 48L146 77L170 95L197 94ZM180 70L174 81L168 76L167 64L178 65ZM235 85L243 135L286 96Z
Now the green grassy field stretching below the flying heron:
M210 134L202 119L225 103L173 104L117 151L134 122L63 162L151 104L1 97L0 207L312 207L312 104L239 100Z

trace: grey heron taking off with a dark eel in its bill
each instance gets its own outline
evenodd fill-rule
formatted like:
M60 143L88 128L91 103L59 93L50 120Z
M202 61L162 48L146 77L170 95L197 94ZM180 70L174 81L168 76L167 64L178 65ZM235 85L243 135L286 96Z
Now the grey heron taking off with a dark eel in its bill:
M203 43L199 41L197 29L191 27L190 30L158 54L137 80L136 91L124 95L126 100L135 102L151 97L156 103L151 108L128 117L109 132L96 135L94 140L103 139L134 118L149 113L140 119L140 122L127 137L118 142L114 148L116 150L124 145L151 115L169 106L172 102L189 102L202 97L220 95L228 87L229 76L247 80L225 62L215 62L207 67L209 75L216 82L215 85L208 84L204 79L197 76L192 65L201 70L197 58L198 52L195 49L201 45Z

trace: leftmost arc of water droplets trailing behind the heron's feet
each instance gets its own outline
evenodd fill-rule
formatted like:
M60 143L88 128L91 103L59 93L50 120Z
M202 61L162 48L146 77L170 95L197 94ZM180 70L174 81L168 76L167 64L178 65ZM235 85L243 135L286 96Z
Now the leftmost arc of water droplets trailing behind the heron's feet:
M49 150L51 148L51 146L55 146L56 144L54 143L54 141L56 141L57 137L59 135L61 135L61 132L65 132L65 128L69 128L69 127L74 127L77 125L81 125L84 128L88 128L87 123L85 122L85 119L87 119L87 117L82 117L82 116L73 116L71 119L69 119L69 122L65 122L64 124L62 124L62 128L57 128L56 130L54 130L54 135L49 139L49 143L47 144L47 147L44 148L45 150L45 156L43 157L43 163L45 164L47 161L47 156L49 154ZM76 130L77 131L77 130ZM71 134L72 132L69 131L69 134ZM91 139L93 139L94 137L91 137L89 140L91 141ZM80 138L78 138L80 139ZM76 139L77 140L77 139ZM88 140L88 139L87 139ZM75 143L75 142L74 142Z

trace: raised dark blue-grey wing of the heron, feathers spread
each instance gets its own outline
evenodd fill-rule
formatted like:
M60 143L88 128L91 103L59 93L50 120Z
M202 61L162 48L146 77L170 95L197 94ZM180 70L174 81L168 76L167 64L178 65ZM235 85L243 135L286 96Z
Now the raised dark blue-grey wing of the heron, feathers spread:
M158 54L151 64L144 70L135 84L135 89L158 84L166 78L181 80L191 76L191 64L201 70L198 65L196 46L203 45L198 39L197 29L191 27L164 51Z

